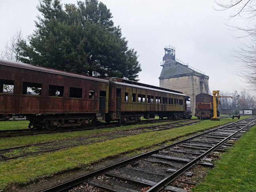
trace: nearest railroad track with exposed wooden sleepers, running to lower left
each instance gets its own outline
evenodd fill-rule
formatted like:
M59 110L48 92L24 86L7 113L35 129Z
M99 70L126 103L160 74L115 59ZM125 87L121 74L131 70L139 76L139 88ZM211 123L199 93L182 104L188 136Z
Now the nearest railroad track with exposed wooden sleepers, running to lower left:
M148 188L147 192L158 192L162 189L187 192L187 190L172 186L172 182L181 175L191 176L193 173L186 171L194 164L213 166L209 155L212 157L215 153L224 152L233 145L232 141L238 140L250 127L254 126L255 121L255 116L239 120L41 192L63 191L83 182L114 192L136 192L142 188Z

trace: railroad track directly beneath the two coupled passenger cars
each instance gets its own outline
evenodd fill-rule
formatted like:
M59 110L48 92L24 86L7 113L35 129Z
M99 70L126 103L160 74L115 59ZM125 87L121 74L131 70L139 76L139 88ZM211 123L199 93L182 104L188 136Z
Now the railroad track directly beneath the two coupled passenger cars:
M149 123L169 122L169 121L177 121L177 120L179 119L154 119L154 120L142 120L138 123L127 123L127 124L120 124L117 122L113 122L113 123L106 123L106 124L102 123L100 125L87 126L85 128L62 128L54 131L50 131L50 130L37 131L37 130L31 130L31 129L0 130L0 137L16 137L16 136L24 136L24 135L73 132L73 131L81 131L81 130L88 130L88 129L100 129L100 128L118 127L123 125L126 126L126 125L134 125L134 124L149 124Z

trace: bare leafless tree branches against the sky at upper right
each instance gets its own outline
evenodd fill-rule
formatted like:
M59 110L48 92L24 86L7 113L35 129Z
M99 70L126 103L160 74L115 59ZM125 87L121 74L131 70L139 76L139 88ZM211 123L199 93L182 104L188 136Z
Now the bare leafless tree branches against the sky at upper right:
M231 30L243 31L243 36L237 38L246 37L249 41L247 45L240 43L233 57L243 63L237 75L248 83L248 90L256 92L256 0L215 0L215 3L215 10L230 10L229 19L244 19L245 26L230 26Z

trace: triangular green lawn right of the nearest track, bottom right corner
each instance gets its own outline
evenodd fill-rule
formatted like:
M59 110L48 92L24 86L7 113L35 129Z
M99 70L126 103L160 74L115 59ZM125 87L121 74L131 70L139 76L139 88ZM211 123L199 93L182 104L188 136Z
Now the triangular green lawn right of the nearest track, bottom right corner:
M192 192L256 192L256 126L216 163Z

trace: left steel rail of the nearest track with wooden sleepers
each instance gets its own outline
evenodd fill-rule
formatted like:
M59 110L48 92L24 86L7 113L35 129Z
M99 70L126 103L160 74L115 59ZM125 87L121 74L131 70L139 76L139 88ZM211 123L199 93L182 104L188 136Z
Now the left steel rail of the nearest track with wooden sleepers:
M244 120L244 119L242 119L242 120ZM241 121L241 120L239 120L239 121ZM237 123L237 122L239 122L239 121L236 121L236 122L233 122L233 123L230 123L230 124L221 126L221 127L219 127L219 128L210 130L210 131L208 131L208 132L204 132L204 133L202 133L202 134L198 134L198 135L193 136L193 137L189 137L189 138L187 138L187 139L183 139L183 140L178 141L178 142L176 142L176 143L172 143L172 144L170 144L170 145L161 147L161 148L156 149L156 150L154 150L154 151L150 151L150 152L141 154L141 155L139 155L139 156L130 158L130 159L128 159L128 160L124 160L124 161L119 162L119 163L117 163L117 164L113 164L113 165L111 165L111 166L107 166L107 167L105 167L105 168L99 169L99 170L94 171L94 172L92 172L92 173L88 173L88 174L82 175L82 176L80 176L80 177L77 177L77 178L75 178L75 179L72 179L72 180L70 180L70 181L66 181L65 183L61 183L61 184L58 184L58 185L56 185L56 186L49 187L49 188L47 188L47 189L45 189L45 190L42 190L42 191L40 191L40 192L60 192L60 191L66 190L66 189L68 189L68 188L71 188L71 187L73 187L73 186L76 186L77 184L83 183L84 181L87 181L88 179L92 179L93 177L97 177L97 176L99 176L99 175L101 175L101 174L103 174L103 173L105 173L105 172L107 172L107 171L110 171L110 170L112 170L112 169L116 169L116 168L125 166L125 165L127 165L127 164L130 164L130 163L135 162L135 161L137 161L137 160L140 160L140 159L142 159L142 158L146 158L146 157L148 157L148 156L151 156L152 154L158 153L159 151L162 151L163 149L168 149L168 148L170 148L170 147L174 147L175 145L178 145L178 144L183 143L183 142L185 142L185 141L189 141L190 139L194 139L194 138L196 138L196 137L203 136L203 135L205 135L205 134L214 132L215 130L224 128L224 127L226 127L226 126L230 126L230 125L235 124L235 123ZM184 171L183 171L183 172L184 172Z

